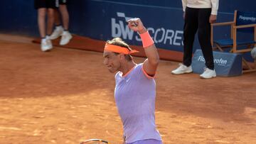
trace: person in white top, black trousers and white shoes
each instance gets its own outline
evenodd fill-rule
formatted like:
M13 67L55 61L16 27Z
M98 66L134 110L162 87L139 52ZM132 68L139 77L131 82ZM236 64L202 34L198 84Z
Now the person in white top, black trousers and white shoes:
M203 79L216 77L213 49L210 43L210 23L217 19L218 0L182 0L183 18L183 63L172 74L191 73L193 41L198 31L198 40L206 60L206 69L200 75Z

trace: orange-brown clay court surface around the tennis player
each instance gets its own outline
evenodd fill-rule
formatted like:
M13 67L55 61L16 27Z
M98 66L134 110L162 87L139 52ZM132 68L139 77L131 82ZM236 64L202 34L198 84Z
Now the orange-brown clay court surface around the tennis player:
M41 52L31 38L0 39L1 144L122 143L114 74L102 52ZM163 60L156 74L156 125L164 143L256 143L256 73L206 80L172 75L177 64Z

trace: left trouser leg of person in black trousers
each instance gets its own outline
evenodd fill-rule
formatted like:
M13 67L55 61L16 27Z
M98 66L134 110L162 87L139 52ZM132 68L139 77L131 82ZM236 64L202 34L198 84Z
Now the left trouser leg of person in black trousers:
M191 65L193 41L198 29L198 9L186 8L183 28L183 65Z

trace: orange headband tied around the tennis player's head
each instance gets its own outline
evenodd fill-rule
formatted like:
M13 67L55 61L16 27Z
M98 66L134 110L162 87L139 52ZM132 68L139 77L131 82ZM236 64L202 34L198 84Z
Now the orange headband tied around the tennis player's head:
M124 55L130 55L132 53L139 52L137 50L131 50L129 51L127 48L120 47L118 45L111 45L106 43L104 50L110 51L110 52L117 52L117 53L123 53Z

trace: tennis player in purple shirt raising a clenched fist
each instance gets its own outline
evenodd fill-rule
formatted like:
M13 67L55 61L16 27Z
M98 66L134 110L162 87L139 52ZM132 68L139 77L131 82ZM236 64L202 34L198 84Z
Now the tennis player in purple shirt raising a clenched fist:
M126 144L162 144L155 123L156 82L154 76L159 54L149 32L139 18L132 18L128 26L139 32L147 59L136 64L129 48L121 38L107 40L104 64L115 74L114 99L124 129Z

